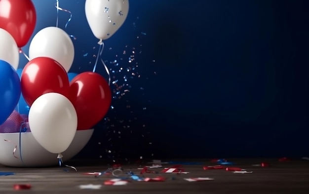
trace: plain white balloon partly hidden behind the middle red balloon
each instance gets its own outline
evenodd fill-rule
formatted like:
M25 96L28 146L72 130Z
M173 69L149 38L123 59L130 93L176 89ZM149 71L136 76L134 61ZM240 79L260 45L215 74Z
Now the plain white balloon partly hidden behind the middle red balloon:
M74 61L74 45L70 36L57 27L40 30L30 42L29 58L49 57L69 72Z

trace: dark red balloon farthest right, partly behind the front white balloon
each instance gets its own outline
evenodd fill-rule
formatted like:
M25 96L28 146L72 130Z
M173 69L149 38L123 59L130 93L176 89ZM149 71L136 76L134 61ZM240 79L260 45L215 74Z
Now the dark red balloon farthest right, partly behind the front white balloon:
M69 99L77 112L77 130L85 130L93 127L107 114L112 92L101 75L83 72L72 79Z

